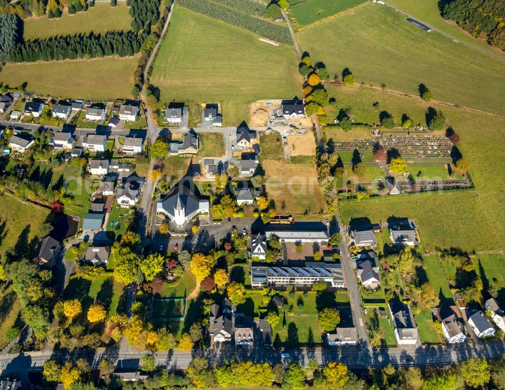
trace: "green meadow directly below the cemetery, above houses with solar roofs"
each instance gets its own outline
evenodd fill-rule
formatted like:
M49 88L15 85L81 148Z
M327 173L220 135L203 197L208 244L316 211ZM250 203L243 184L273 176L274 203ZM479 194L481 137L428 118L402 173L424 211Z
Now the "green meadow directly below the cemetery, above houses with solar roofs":
M372 222L384 222L391 216L415 219L421 243L429 250L487 250L498 245L474 191L396 195L361 202L342 201L338 205L344 225L360 217Z

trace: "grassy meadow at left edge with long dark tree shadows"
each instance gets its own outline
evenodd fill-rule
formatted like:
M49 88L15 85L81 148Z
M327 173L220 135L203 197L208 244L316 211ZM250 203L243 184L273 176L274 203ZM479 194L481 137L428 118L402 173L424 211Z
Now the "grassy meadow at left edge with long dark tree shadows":
M0 254L14 247L32 258L37 250L38 240L34 240L37 230L44 223L50 210L32 203L25 203L4 193L0 196Z

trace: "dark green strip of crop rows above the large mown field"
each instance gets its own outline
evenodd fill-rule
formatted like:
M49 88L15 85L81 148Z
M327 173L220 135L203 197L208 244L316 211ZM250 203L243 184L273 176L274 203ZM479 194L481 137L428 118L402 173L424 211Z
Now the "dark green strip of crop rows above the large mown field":
M276 42L288 45L293 44L287 26L270 23L266 20L256 18L245 12L240 12L210 0L177 0L177 4L190 11L221 20Z

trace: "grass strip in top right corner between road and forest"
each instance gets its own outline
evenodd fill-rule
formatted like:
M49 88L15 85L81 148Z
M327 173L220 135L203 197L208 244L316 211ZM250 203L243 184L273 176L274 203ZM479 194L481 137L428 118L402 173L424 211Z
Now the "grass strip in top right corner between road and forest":
M437 0L424 0L422 2L418 0L391 0L389 3L463 42L468 42L503 55L503 52L500 50L474 38L470 33L464 31L456 22L442 18Z

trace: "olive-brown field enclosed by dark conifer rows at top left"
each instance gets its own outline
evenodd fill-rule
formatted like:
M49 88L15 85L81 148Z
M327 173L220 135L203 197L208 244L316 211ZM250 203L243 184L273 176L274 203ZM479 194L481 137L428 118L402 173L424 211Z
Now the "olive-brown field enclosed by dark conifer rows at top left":
M23 38L43 39L52 36L102 34L107 31L127 31L131 29L131 17L126 3L111 7L110 3L96 3L86 12L69 15L64 11L61 18L49 19L46 15L23 20Z

